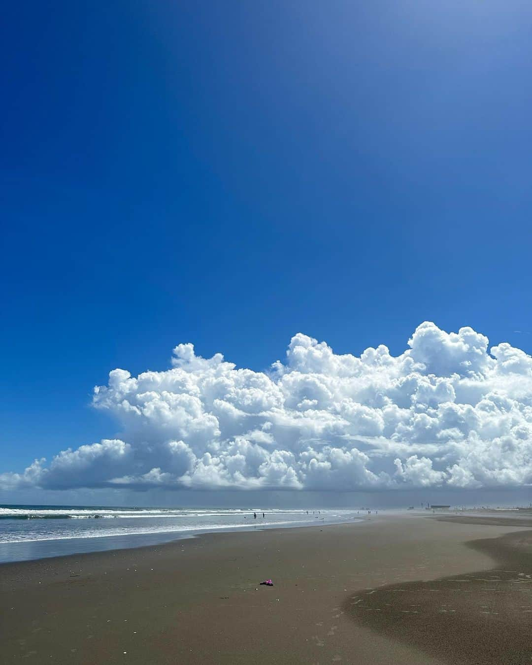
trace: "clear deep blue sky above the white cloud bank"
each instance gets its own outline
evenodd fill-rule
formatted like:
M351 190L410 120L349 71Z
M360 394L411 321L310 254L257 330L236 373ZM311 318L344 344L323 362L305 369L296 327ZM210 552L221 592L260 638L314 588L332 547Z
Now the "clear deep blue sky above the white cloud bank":
M10 3L0 471L109 370L422 321L532 350L529 3ZM514 331L523 331L517 333Z

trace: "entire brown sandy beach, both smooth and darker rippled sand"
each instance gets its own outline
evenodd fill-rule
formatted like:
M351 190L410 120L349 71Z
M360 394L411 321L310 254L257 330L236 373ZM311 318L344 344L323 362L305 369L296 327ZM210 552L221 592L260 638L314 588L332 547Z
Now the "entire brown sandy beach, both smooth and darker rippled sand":
M6 564L0 661L528 663L531 527L382 514Z

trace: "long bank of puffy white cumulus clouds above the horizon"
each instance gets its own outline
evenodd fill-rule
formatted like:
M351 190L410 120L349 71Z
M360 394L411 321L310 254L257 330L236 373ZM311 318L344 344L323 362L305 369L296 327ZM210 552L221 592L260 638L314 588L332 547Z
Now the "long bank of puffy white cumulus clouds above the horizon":
M174 348L172 368L94 388L119 439L64 450L1 489L519 487L532 483L532 358L422 323L408 349L334 354L296 334L268 372Z

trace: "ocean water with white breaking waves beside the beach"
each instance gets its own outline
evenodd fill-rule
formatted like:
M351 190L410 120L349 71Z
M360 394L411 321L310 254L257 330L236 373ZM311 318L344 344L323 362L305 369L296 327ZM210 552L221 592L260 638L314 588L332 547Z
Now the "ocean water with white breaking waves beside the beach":
M353 522L362 513L332 509L0 505L0 563L156 545L214 531Z

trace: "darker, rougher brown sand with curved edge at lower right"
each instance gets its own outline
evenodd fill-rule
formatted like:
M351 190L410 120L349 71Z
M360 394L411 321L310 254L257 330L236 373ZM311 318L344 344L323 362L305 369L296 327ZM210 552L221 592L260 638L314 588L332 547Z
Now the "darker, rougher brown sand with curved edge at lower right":
M438 517L467 525L518 520ZM519 525L523 521L519 520ZM453 665L532 662L532 531L467 543L489 570L363 589L342 607L358 625Z

